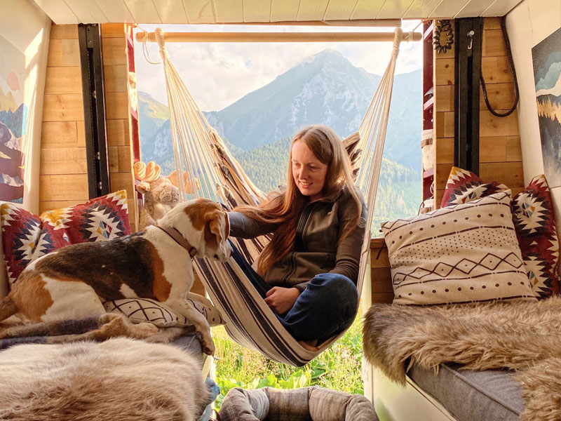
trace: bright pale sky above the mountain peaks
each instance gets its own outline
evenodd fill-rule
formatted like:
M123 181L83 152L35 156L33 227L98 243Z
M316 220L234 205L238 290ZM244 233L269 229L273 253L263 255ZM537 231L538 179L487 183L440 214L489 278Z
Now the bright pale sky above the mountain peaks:
M405 20L402 29L412 31L417 25L418 20ZM158 26L163 27L164 32L393 32L393 28L383 27L331 29L273 25L142 25L142 29L154 32ZM416 32L420 31L421 26ZM137 28L135 32L142 30ZM175 69L201 110L219 111L326 48L340 51L356 67L381 75L388 65L392 43L169 43L167 47ZM145 49L149 60L160 60L156 43L146 43ZM421 42L403 42L396 73L412 72L421 66ZM138 91L147 92L168 105L163 65L149 63L140 42L135 43L135 67Z

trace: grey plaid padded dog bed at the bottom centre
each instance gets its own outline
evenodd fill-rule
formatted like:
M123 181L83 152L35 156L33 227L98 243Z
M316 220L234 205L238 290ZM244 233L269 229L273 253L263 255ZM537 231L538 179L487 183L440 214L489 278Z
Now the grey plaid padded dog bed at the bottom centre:
M321 387L280 390L230 389L220 407L221 421L377 421L372 403L359 394Z

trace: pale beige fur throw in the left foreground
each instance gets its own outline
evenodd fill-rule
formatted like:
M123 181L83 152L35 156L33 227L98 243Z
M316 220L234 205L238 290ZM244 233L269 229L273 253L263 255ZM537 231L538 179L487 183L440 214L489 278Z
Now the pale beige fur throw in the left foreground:
M208 401L200 360L161 344L19 345L0 352L0 419L192 421Z

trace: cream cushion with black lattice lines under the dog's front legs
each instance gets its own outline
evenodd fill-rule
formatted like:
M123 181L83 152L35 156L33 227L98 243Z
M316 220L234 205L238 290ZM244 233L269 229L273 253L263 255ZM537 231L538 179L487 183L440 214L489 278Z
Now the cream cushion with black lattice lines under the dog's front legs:
M207 319L210 327L224 324L222 314L202 295L189 293L187 298L197 311ZM107 301L103 305L108 313L124 314L133 323L150 321L161 328L171 326L192 326L192 323L181 314L175 314L161 302L147 298L123 298L122 300Z

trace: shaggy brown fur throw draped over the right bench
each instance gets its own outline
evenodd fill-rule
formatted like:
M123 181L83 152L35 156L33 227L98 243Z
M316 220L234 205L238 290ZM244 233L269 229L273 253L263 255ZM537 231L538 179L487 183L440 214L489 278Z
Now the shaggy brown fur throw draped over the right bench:
M509 368L526 401L521 421L561 420L561 298L539 302L407 307L374 305L363 326L365 357L405 384L405 363L438 370Z

